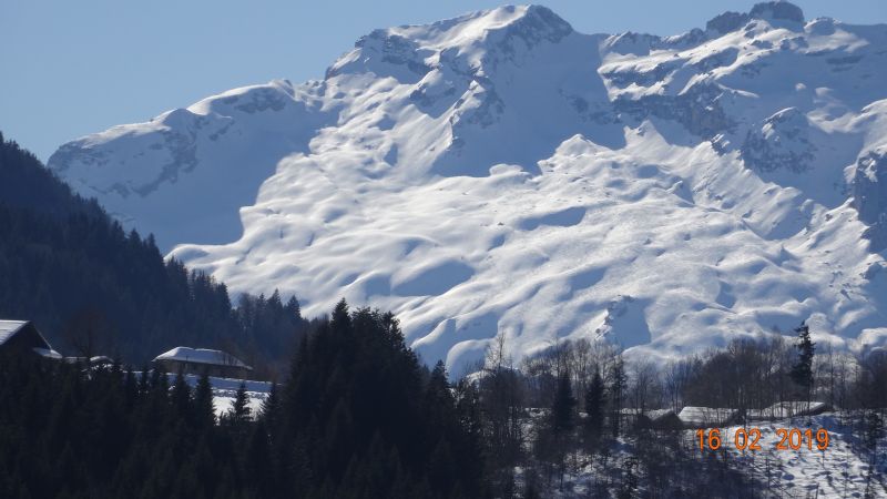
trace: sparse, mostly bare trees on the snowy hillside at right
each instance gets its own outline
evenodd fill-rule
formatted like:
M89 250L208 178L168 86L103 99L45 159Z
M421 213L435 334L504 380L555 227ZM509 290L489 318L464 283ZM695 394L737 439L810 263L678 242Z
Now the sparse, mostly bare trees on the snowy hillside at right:
M736 339L664 365L628 361L614 345L588 339L559 342L514 364L498 336L478 368L481 421L497 470L490 480L500 497L551 493L579 470L592 477L589 497L745 497L741 491L759 489L762 477L731 466L726 447L700 455L680 421L654 428L638 415L732 408L735 424L743 424L751 410L812 400L829 405L863 442L871 497L887 493L877 462L887 353L818 346L804 324L794 339Z

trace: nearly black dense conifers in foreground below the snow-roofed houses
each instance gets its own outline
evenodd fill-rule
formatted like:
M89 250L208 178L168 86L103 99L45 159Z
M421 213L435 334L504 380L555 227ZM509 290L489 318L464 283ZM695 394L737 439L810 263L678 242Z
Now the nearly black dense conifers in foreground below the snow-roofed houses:
M210 379L0 358L0 497L482 498L473 399L397 319L341 302L258 414L216 420Z

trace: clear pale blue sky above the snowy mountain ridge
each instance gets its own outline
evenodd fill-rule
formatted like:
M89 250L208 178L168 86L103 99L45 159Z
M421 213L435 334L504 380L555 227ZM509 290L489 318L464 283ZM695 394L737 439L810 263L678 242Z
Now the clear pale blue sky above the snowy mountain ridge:
M322 78L375 28L504 1L0 0L0 131L47 160L61 143L274 78ZM585 33L676 34L754 0L549 0ZM887 22L887 0L797 0L807 19Z

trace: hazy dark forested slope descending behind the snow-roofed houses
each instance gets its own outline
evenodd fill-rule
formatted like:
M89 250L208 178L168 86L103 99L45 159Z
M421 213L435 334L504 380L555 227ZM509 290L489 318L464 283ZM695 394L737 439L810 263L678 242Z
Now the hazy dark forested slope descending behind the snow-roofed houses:
M244 295L124 232L0 134L0 317L29 319L70 355L143 363L179 345L286 358L307 328L295 297Z

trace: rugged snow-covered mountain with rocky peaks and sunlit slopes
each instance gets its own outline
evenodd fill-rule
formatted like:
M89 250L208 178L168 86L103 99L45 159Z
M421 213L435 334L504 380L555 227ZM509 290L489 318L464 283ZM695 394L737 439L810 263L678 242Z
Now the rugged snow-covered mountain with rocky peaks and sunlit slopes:
M282 68L285 71L285 68ZM669 358L808 320L887 346L887 26L787 2L674 37L503 7L377 30L49 165L235 291L392 309L458 374L606 337Z

